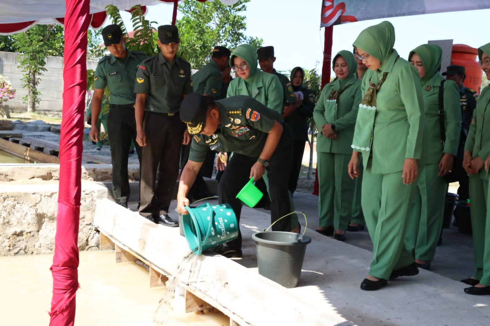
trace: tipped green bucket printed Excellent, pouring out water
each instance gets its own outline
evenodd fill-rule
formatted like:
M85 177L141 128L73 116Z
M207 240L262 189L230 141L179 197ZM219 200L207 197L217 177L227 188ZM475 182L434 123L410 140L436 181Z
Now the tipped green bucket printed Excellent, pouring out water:
M238 238L238 223L235 212L228 204L205 203L191 208L182 216L185 239L191 251L199 256L203 250Z

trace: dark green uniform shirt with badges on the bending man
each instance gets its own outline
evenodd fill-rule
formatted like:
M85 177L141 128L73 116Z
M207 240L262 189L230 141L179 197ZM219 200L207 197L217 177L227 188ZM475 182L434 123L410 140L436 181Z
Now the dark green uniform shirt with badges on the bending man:
M237 152L259 157L274 122L282 116L249 96L232 96L215 102L220 109L218 130L193 136L189 159L203 162L208 147L218 152Z

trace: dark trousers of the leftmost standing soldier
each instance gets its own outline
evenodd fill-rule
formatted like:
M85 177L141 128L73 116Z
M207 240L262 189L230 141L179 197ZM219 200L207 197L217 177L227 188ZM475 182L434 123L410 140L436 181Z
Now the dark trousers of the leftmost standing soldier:
M126 203L129 198L127 161L131 141L134 140L138 160L142 150L136 143L136 121L133 108L111 108L107 117L107 133L111 144L112 193L116 203Z

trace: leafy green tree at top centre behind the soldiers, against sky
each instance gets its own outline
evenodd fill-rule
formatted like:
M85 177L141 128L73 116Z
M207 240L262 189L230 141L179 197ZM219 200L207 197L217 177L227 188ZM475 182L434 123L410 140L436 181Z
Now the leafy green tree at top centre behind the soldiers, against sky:
M246 17L241 13L249 1L240 0L231 6L221 1L181 1L178 9L182 19L175 23L180 36L179 56L193 68L200 69L211 59L211 49L215 45L230 50L242 43L261 47L262 39L245 36Z

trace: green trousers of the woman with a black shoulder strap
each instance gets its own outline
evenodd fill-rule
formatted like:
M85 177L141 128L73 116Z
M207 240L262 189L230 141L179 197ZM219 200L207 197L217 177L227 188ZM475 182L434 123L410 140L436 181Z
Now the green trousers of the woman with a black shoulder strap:
M417 190L407 221L405 247L416 259L432 261L441 235L447 183L438 176L439 164L427 164L419 172Z

